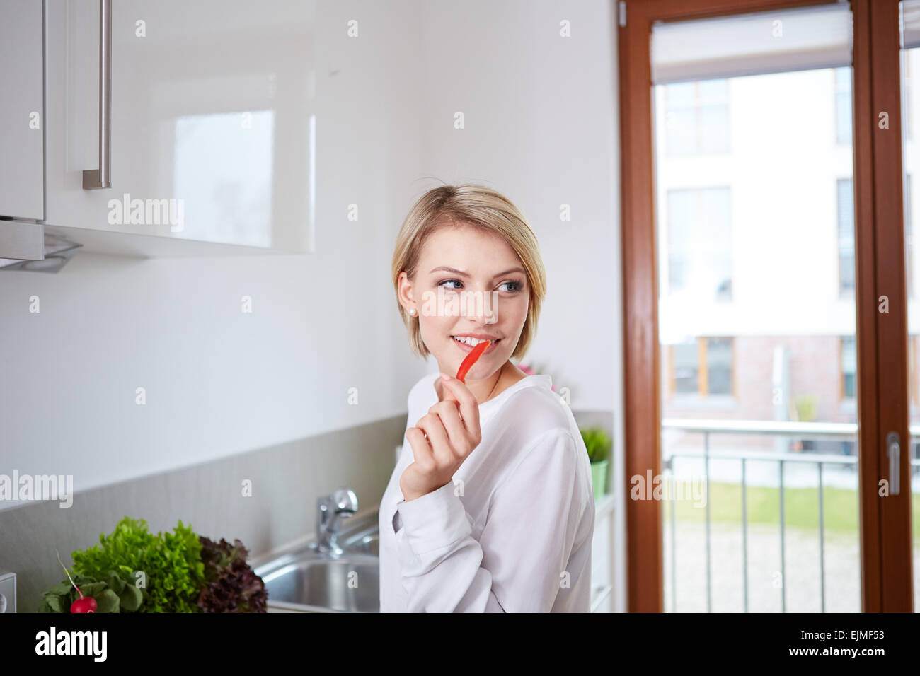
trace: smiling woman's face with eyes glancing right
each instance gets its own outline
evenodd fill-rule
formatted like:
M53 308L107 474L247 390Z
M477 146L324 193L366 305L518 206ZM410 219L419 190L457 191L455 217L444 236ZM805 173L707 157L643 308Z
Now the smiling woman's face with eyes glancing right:
M462 223L438 228L422 246L415 280L403 273L403 287L401 300L416 308L421 338L442 372L455 375L472 350L454 337L492 340L466 380L489 378L511 357L530 289L521 259L500 236Z

